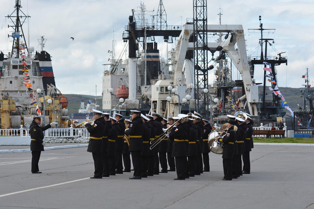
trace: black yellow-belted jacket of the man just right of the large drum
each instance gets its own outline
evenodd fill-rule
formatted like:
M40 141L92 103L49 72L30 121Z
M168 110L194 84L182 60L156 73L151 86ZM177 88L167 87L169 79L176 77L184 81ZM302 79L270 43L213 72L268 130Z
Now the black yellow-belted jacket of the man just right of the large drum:
M223 145L223 152L222 158L223 159L232 159L233 152L234 152L234 143L236 141L236 132L233 130L233 127L229 128L227 133L225 134L224 138L220 138L219 142L222 142Z

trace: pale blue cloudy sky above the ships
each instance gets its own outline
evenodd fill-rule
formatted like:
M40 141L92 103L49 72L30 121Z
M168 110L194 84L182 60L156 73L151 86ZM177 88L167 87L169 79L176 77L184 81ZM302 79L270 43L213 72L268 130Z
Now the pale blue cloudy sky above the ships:
M142 1L149 11L157 14L159 0ZM180 2L180 3L178 3ZM193 17L193 1L164 0L168 25L184 24ZM0 50L12 47L8 34L8 14L14 11L15 0L2 0L0 7ZM64 94L101 95L103 64L109 63L112 40L116 40L116 58L124 46L122 33L128 23L131 10L139 10L139 0L21 0L25 14L31 18L23 26L30 33L30 45L40 50L37 39L44 35L45 48L52 56L52 67L56 86ZM314 81L314 1L312 0L229 0L208 1L208 24L219 24L218 8L223 9L222 24L242 24L248 44L248 54L258 56L260 34L249 33L248 29L259 28L258 16L262 16L264 28L276 29L275 33L264 34L264 38L275 39L273 46L288 56L288 66L278 70L279 89L285 86L301 87L306 67L310 70L310 81ZM1 18L2 17L2 18ZM148 22L151 17L147 15ZM156 20L156 19L155 19ZM29 26L28 26L29 25ZM114 30L114 32L113 32ZM74 37L74 41L70 39ZM213 41L218 37L211 37ZM163 43L160 48L165 52L174 44ZM268 53L277 55L269 48ZM257 69L255 79L261 81L262 69ZM211 82L214 79L211 73Z

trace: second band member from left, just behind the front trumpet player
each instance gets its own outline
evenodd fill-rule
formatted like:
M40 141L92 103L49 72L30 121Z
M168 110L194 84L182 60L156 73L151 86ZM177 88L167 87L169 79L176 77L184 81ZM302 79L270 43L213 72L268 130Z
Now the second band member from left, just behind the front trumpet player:
M102 117L104 118L106 122L106 129L104 131L104 135L102 136L103 140L103 146L102 146L102 152L101 152L101 160L102 160L102 176L103 177L109 177L110 171L109 171L109 163L108 163L108 137L110 135L112 124L109 120L110 114L109 113L102 113Z

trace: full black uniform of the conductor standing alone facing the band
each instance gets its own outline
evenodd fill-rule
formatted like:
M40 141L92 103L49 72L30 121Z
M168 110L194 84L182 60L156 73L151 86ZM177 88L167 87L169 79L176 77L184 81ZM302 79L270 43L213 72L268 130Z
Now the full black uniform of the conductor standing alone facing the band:
M50 124L40 127L40 125L35 122L35 119L30 124L30 138L32 139L30 141L30 151L32 151L32 173L39 172L38 162L41 151L44 151L44 145L42 145L44 142L44 131L48 128L51 128Z

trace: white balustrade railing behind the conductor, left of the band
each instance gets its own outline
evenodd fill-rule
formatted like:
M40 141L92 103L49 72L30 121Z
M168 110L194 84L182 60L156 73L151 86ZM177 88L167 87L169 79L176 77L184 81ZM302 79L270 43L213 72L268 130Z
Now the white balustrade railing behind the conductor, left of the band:
M20 134L23 133L23 134ZM0 136L29 136L29 128L10 128L0 129ZM49 128L45 131L46 137L61 137L61 136L84 136L89 137L89 132L86 128Z

